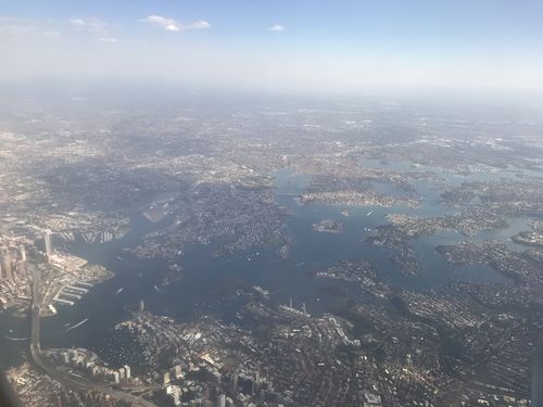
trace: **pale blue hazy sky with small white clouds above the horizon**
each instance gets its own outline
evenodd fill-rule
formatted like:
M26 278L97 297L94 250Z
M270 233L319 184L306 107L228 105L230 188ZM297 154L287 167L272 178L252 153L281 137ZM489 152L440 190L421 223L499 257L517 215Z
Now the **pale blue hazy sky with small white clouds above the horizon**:
M541 0L0 0L0 81L543 91Z

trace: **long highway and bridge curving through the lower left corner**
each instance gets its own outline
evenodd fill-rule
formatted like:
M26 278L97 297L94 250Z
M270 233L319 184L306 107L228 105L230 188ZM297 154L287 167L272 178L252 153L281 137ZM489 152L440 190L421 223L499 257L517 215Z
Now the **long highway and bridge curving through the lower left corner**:
M46 372L51 378L59 380L61 383L72 385L85 391L101 392L109 394L111 397L131 403L132 406L141 407L156 407L153 403L148 402L141 397L135 396L132 394L111 389L110 386L98 383L91 380L86 380L81 378L76 378L70 373L56 370L53 366L48 365L48 363L41 357L41 346L40 346L40 310L41 310L41 300L39 295L40 288L40 272L33 267L33 302L31 302L31 341L30 341L30 356L38 368Z

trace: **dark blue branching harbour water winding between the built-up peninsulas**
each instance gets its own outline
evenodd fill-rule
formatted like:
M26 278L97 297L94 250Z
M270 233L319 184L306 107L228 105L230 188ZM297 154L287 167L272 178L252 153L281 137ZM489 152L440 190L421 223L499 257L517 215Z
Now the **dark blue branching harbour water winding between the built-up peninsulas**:
M338 281L313 279L310 272L332 265L336 262L365 257L372 262L380 276L392 284L425 290L442 287L453 280L480 280L508 283L488 266L455 267L444 262L435 252L438 244L451 244L462 240L506 240L520 230L528 229L529 219L509 219L509 227L466 238L456 232L443 232L420 238L413 242L422 272L417 277L405 277L390 259L394 254L389 249L365 243L371 229L383 225L384 215L406 213L418 216L441 215L451 211L444 205L439 192L431 185L420 182L418 189L426 191L422 206L407 207L349 207L349 217L341 214L342 206L299 205L292 194L302 191L307 179L291 169L276 174L277 202L289 213L285 232L292 238L291 255L287 260L277 256L277 247L253 247L214 258L215 245L197 245L176 260L182 266L179 280L162 287L160 275L167 267L166 260L138 259L123 251L140 242L149 231L167 222L151 224L141 214L144 204L135 205L130 211L130 232L119 241L109 243L74 242L68 250L89 263L101 264L115 276L92 288L74 306L59 307L54 317L42 320L43 347L80 346L97 352L114 365L137 364L136 344L119 338L113 327L129 318L130 309L136 309L140 300L152 313L169 315L180 320L190 320L210 314L227 321L241 323L236 318L240 303L225 307L217 306L223 296L230 295L240 287L261 285L272 293L278 304L293 300L294 306L306 304L312 315L326 313L337 305L338 297L327 287L340 287L349 295L362 295L356 287ZM400 193L400 192L399 192ZM344 224L342 233L316 233L313 224L334 218ZM515 245L514 243L509 243ZM518 247L512 247L518 249ZM75 327L74 329L68 327ZM66 329L68 328L68 329ZM11 330L11 332L10 332ZM27 338L29 321L15 318L8 311L0 314L0 368L22 360L27 341L9 338Z

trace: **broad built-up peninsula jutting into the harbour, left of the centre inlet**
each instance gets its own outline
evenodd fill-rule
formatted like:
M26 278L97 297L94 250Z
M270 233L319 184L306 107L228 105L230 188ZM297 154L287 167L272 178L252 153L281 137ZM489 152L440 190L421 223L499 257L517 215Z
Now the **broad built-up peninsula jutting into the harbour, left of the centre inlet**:
M281 234L283 213L274 201L269 180L258 182L251 188L198 182L169 202L173 224L147 234L132 253L176 258L189 244L209 244L224 238L228 242L217 254L265 244Z

